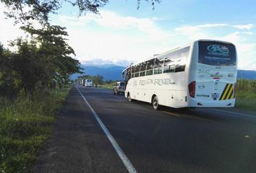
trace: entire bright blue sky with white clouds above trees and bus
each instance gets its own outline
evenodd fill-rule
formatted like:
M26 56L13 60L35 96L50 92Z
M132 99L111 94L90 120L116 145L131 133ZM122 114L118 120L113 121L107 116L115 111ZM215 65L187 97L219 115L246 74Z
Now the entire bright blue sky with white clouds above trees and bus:
M24 35L4 19L0 5L0 42ZM224 40L236 45L238 68L256 70L255 0L109 0L100 14L79 17L77 8L63 4L51 14L51 24L67 27L68 43L81 63L127 66L194 40Z

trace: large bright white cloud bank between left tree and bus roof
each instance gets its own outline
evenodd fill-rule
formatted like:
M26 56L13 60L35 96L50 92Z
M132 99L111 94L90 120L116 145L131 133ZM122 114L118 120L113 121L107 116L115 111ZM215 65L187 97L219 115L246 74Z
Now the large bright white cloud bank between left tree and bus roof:
M122 66L150 58L171 46L173 35L158 27L159 18L121 17L114 12L101 16L60 16L59 25L66 25L69 44L80 61L101 58ZM97 60L99 61L99 59ZM101 61L100 61L101 62Z

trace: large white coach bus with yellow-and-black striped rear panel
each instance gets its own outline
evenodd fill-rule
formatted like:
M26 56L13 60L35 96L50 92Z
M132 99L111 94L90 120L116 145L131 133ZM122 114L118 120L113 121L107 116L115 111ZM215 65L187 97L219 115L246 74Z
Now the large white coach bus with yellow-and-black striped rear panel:
M218 40L197 40L122 72L125 97L167 107L234 107L236 48Z

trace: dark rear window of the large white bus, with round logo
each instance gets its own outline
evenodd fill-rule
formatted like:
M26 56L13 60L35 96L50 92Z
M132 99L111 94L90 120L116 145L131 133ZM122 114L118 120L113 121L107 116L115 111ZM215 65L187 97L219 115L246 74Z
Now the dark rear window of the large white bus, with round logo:
M236 48L227 43L200 41L198 63L210 66L236 66Z

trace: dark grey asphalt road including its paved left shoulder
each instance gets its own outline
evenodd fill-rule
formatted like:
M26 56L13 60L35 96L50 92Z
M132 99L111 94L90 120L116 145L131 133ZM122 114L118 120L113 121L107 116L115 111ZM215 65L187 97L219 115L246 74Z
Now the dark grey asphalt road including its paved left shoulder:
M256 112L155 111L77 85L57 117L31 172L256 172Z

